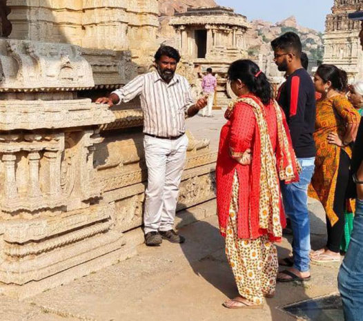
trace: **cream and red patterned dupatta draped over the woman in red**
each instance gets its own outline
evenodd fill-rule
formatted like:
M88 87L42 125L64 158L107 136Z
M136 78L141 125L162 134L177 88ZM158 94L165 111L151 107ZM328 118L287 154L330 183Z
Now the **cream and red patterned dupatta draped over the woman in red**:
M226 117L233 113L233 108L244 103L252 107L256 119L255 142L253 153L257 157L259 166L251 171L251 202L258 206L250 206L248 225L239 226L240 238L257 238L268 234L271 240L282 237L282 222L284 213L281 204L279 179L286 183L299 179L297 170L299 164L291 144L286 119L276 101L273 101L277 123L276 155L271 144L268 126L264 115L264 105L257 97L242 97L228 106ZM244 150L232 150L232 153L241 154ZM217 186L218 188L218 186ZM243 193L243 192L242 192ZM224 235L228 213L219 215L221 233ZM242 221L242 220L241 220Z

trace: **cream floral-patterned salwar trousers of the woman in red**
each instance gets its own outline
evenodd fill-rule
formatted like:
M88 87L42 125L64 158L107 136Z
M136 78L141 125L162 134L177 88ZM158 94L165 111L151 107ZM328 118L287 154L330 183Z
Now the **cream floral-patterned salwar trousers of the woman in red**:
M239 295L262 304L264 295L275 293L278 271L275 244L263 235L256 240L237 237L238 177L233 177L233 193L230 201L226 228L226 256L235 276Z

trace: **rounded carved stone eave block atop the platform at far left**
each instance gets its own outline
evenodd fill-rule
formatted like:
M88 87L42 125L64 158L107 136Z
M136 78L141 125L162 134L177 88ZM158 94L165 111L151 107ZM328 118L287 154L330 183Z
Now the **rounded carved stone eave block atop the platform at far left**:
M8 59L12 61L8 61ZM15 88L91 88L92 69L79 48L64 43L0 39L1 90ZM4 68L6 66L6 68ZM14 77L16 76L16 77Z

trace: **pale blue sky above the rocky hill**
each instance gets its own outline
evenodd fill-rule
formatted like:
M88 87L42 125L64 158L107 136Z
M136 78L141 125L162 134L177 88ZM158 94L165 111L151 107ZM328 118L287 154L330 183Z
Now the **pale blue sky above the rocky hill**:
M326 14L333 0L215 0L219 6L234 8L248 20L264 19L273 23L295 16L300 26L324 31Z

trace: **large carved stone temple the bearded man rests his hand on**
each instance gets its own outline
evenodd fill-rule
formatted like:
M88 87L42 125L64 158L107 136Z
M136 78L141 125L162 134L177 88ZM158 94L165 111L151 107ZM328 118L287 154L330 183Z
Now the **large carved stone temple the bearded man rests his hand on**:
M0 293L23 298L144 241L139 101L108 108L92 98L152 64L158 9L157 0L0 0L0 12ZM215 197L216 155L189 136L178 208L193 213Z

